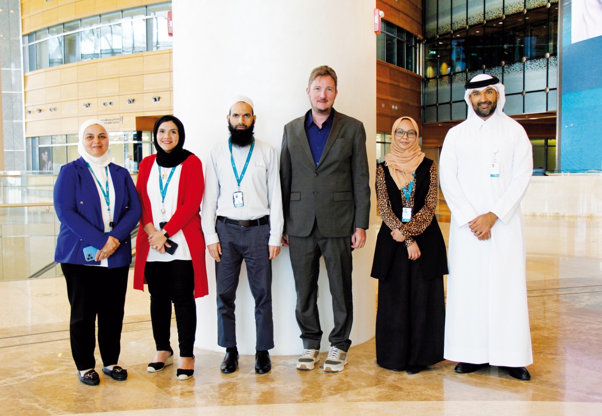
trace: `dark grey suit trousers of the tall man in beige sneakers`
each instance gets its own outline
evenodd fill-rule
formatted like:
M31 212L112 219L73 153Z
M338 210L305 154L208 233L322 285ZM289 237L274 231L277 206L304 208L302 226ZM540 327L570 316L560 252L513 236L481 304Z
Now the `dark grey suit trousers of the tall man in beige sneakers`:
M320 349L322 331L317 305L318 274L320 257L324 256L335 324L328 340L331 346L349 350L353 323L351 238L323 237L317 224L314 224L308 237L289 235L288 241L297 291L295 315L301 329L303 348Z

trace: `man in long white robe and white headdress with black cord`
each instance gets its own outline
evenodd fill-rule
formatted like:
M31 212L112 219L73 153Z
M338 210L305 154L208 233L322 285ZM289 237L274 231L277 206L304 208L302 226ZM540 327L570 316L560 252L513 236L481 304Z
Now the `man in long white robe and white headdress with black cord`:
M439 163L452 211L444 357L456 372L497 365L529 380L532 364L521 200L533 172L523 127L502 112L504 85L465 85L468 119L450 129Z

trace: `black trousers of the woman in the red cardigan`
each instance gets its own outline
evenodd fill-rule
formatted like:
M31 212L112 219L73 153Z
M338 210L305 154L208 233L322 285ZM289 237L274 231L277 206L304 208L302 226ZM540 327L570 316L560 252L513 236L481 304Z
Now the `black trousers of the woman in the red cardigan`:
M192 357L196 331L192 260L147 261L144 277L151 294L152 334L157 351L169 351L172 302L181 357Z

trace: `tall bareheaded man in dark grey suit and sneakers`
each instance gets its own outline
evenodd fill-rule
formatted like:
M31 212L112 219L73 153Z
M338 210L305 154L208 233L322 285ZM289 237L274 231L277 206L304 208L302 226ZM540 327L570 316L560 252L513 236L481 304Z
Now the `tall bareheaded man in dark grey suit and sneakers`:
M282 243L290 246L303 340L297 369L312 370L320 361L317 291L324 256L334 312L324 371L338 372L351 345L351 252L364 246L370 217L366 132L361 122L332 108L338 93L332 68L312 70L306 91L311 110L288 123L282 137Z

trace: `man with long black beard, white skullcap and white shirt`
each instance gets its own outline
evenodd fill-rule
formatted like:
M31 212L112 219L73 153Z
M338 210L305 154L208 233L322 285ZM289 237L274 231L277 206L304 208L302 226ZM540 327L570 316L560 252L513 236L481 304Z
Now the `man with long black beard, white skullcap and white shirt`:
M234 300L241 262L255 299L255 372L272 369L274 347L272 259L280 253L284 217L275 149L253 137L253 101L232 99L226 119L230 137L209 153L201 222L216 260L217 343L226 348L222 373L238 365Z

